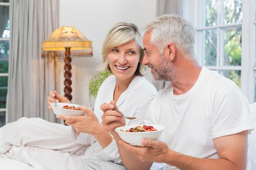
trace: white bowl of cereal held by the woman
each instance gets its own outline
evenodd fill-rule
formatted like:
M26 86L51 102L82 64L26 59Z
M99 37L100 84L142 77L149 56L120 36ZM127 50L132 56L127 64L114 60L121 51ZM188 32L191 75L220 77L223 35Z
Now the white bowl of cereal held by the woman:
M50 104L52 106L52 110L55 113L55 115L65 115L65 116L83 116L86 115L86 113L84 111L76 111L76 110L68 110L68 109L63 109L63 106L79 106L79 105L75 105L75 104L70 104L70 103L56 103L56 107L55 107L55 103L51 103Z

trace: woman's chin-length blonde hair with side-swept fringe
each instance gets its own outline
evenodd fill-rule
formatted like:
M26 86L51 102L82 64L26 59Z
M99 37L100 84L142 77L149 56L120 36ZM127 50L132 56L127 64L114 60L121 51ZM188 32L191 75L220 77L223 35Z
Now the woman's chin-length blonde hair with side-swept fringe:
M135 71L136 76L143 76L146 71L146 66L141 62L144 57L142 33L140 29L133 23L117 23L108 32L105 42L102 47L102 58L103 64L100 66L101 71L111 71L108 64L108 52L111 48L118 45L122 45L128 41L135 40L140 48L140 62L138 63L137 69Z

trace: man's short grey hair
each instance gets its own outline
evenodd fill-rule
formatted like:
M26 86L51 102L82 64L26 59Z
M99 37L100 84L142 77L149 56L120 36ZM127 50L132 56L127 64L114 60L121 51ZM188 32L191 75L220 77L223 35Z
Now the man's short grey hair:
M165 14L150 21L144 28L151 31L151 43L160 53L170 42L187 58L195 60L195 30L192 23L177 14Z

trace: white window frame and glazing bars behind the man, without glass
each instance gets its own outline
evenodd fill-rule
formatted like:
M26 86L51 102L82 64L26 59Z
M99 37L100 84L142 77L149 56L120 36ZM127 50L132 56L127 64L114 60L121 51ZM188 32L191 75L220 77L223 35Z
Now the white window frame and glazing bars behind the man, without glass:
M219 0L218 3L218 24L224 20L224 0ZM201 5L200 5L201 4ZM205 26L205 14L206 14L206 0L183 0L183 17L192 22L192 25L197 32L195 37L195 53L198 59L198 63L204 66L204 38L205 31L212 28L217 28L217 65L216 66L204 66L211 70L241 70L241 92L248 99L250 103L255 102L255 27L256 27L256 0L248 1L242 0L243 18L240 23L221 24L217 26ZM219 22L220 21L220 22ZM223 22L221 22L223 23ZM241 66L228 66L224 65L224 30L228 27L242 27L242 53L241 53ZM218 34L219 33L219 34ZM249 34L248 34L249 33ZM222 56L221 56L222 55Z

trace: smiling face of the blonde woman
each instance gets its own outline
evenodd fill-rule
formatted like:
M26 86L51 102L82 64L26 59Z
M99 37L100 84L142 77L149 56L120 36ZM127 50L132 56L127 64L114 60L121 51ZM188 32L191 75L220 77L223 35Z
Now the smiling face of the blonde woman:
M108 52L108 63L116 79L124 80L133 76L139 60L140 48L135 40L113 47Z

